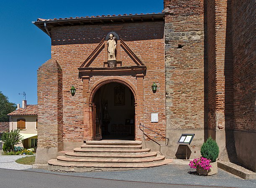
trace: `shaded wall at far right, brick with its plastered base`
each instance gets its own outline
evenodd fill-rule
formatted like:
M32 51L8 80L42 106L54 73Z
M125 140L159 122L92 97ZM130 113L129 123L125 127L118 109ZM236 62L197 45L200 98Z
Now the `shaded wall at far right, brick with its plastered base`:
M231 3L234 137L238 161L256 171L255 0Z

